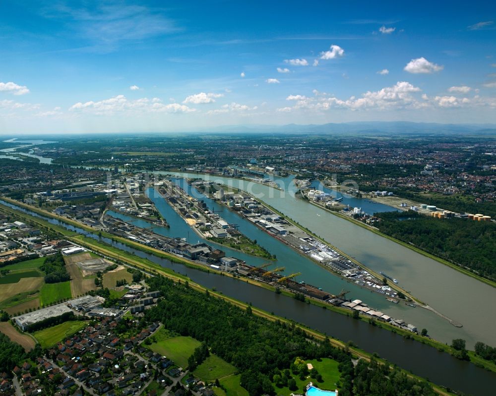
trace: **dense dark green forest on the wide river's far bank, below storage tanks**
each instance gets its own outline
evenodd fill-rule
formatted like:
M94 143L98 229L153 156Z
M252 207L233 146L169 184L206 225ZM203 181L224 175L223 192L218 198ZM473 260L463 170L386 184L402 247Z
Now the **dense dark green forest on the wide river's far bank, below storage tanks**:
M436 219L414 211L375 213L386 235L496 281L496 225L468 219ZM402 220L404 219L404 220Z

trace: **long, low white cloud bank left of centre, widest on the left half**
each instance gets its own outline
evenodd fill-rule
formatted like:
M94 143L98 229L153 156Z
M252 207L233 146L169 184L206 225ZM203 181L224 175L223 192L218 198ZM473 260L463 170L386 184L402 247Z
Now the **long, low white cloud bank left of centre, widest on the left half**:
M167 112L167 113L189 113L194 112L187 106L177 103L164 105L159 101L149 100L148 98L141 98L136 100L129 100L124 95L117 95L115 97L104 99L102 101L94 102L78 102L69 108L71 112L84 112L94 113L98 115L110 115L120 112Z

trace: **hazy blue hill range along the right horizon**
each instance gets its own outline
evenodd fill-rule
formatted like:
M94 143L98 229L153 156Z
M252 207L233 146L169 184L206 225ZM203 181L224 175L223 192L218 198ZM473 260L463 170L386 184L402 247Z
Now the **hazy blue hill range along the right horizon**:
M207 129L204 129L206 132ZM496 124L438 124L408 121L360 121L310 125L226 125L209 132L285 132L285 133L370 133L370 134L496 134Z

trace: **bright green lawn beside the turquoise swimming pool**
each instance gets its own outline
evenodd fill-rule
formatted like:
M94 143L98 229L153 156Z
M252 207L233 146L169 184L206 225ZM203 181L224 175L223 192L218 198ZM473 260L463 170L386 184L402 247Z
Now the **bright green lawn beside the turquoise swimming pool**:
M292 377L295 379L298 391L301 391L310 382L313 382L317 388L325 391L334 391L336 388L338 388L336 384L339 382L339 378L341 375L338 370L337 361L323 358L320 361L317 361L316 359L307 360L306 363L310 363L318 371L318 373L322 376L322 382L315 381L310 377L305 378L305 380L302 381L300 380L299 375L292 374ZM277 395L280 396L290 396L295 393L295 391L291 391L288 387L280 388L274 385L274 389Z

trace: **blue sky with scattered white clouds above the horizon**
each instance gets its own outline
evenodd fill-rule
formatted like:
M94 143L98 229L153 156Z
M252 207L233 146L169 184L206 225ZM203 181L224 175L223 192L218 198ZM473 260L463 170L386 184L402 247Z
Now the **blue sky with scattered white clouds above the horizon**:
M496 122L489 1L1 1L0 133Z

